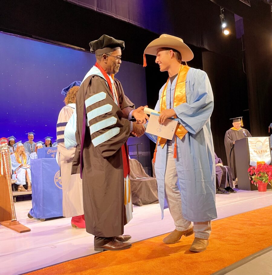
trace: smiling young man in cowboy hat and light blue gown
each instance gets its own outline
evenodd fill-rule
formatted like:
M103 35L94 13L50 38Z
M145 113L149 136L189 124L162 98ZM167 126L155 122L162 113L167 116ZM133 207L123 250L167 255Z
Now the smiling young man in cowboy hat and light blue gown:
M155 55L160 71L169 75L155 107L160 112L159 123L170 117L179 121L172 140L148 134L157 141L154 160L162 218L168 205L176 226L163 241L176 243L183 235L194 233L190 250L201 252L209 244L211 220L217 217L210 127L212 88L205 72L181 64L193 59L193 52L182 39L163 34L144 54Z

